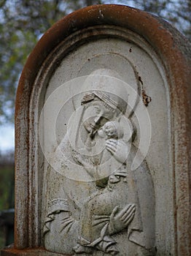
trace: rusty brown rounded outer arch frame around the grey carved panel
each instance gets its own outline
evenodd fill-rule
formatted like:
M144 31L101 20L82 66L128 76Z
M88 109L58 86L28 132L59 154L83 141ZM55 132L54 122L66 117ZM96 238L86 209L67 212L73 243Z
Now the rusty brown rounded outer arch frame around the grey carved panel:
M41 217L36 206L36 199L42 191L38 190L39 181L35 170L43 162L37 165L36 159L41 161L38 158L39 146L31 142L31 136L37 136L37 126L30 132L35 127L35 116L38 116L36 112L30 113L37 99L34 84L39 78L36 76L50 53L71 34L100 25L120 26L135 32L151 45L163 61L171 99L176 255L190 255L191 119L187 114L191 110L189 44L165 21L147 12L114 4L87 7L55 23L39 40L23 69L15 109L15 195L19 195L19 200L15 198L15 249L42 246L38 221Z

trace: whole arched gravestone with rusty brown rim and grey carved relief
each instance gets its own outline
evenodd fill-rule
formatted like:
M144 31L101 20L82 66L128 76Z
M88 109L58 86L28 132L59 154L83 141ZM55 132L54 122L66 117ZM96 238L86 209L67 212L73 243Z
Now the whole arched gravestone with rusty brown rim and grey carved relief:
M15 117L15 244L1 255L190 255L190 44L97 5L28 57Z

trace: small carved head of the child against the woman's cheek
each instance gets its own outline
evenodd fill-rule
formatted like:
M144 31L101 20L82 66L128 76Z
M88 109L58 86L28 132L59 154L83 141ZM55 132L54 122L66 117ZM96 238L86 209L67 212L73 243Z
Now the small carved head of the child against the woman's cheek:
M104 124L104 132L107 138L120 139L123 136L122 128L117 121L108 121Z

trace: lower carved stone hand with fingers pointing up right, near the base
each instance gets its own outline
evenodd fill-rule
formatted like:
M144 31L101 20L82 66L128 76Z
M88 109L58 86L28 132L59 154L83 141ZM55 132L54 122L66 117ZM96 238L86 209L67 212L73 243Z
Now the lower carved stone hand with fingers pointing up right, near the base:
M109 220L108 233L112 235L123 230L125 227L128 227L130 222L133 220L135 215L136 206L134 204L128 204L119 211L119 206L116 206Z

